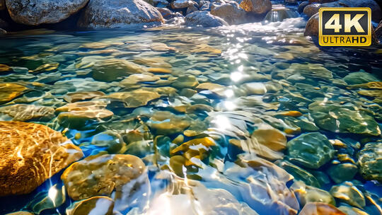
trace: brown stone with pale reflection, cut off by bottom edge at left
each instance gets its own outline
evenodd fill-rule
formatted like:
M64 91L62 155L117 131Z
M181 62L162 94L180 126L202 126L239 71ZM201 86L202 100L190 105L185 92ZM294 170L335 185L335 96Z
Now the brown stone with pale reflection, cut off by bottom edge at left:
M113 208L114 201L109 197L91 197L75 202L69 209L66 209L66 214L84 215L91 214L91 211L97 211L97 215L112 215Z

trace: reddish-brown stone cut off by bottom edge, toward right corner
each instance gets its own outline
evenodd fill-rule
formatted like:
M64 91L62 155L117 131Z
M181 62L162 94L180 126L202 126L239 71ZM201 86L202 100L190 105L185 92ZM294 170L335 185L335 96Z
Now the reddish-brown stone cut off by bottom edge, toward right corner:
M300 215L346 215L332 204L323 202L309 202L300 211Z

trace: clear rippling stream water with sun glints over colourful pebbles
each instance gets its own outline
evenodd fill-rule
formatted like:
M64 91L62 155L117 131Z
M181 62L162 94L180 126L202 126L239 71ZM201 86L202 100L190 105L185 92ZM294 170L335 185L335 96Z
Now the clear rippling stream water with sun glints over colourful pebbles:
M67 93L102 92L91 99L102 100L111 117L76 124L78 119L62 120L56 112L28 122L63 132L85 156L127 153L144 161L147 178L135 179L134 189L122 192L122 199L115 200L115 214L296 214L305 204L301 190L325 202L332 186L349 184L335 182L330 168L353 163L359 169L357 153L366 143L381 141L380 132L370 135L378 128L362 127L371 121L380 125L381 91L361 95L362 88L374 89L349 87L361 78L352 83L345 78L361 71L374 77L372 81L382 79L381 47L320 50L303 37L305 25L303 18L289 18L221 28L12 33L0 37L0 64L13 67L0 82L20 83L33 91L0 107L25 103L59 108L68 103ZM160 96L151 99L139 89ZM132 91L134 100L108 97ZM315 102L335 108L325 112L313 108ZM351 110L345 113L350 120L342 121L338 110L344 108ZM105 109L89 106L88 112ZM319 120L318 112L336 123ZM0 119L12 117L2 113ZM277 145L284 136L291 141L311 132L340 140L347 148L335 146L330 160L314 169L290 159L289 146ZM194 144L177 148L193 139ZM267 145L273 141L275 146ZM381 159L381 149L374 149ZM317 150L315 156L314 148L300 153L314 163L323 153ZM341 175L348 170L335 171ZM359 210L381 213L380 183L365 180L358 171L348 180L352 192L332 190L337 194L332 204L350 210L363 198L366 203ZM62 172L31 194L1 198L0 214L65 214L75 201L62 192ZM341 192L356 203L338 197ZM91 214L103 214L109 203L99 201Z

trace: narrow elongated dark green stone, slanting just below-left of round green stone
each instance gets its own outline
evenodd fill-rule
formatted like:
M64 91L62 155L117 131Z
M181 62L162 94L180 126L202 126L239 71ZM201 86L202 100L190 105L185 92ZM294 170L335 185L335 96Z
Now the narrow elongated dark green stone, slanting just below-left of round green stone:
M299 168L297 165L294 165L288 161L279 160L275 163L286 170L289 174L293 175L295 180L302 180L306 183L306 185L320 187L320 182L318 182L317 178L303 168Z

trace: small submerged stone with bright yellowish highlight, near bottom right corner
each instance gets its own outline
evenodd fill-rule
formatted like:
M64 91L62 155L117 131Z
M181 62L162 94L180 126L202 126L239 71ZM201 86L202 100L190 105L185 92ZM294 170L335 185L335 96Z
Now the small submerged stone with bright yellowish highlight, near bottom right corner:
M330 193L333 197L354 207L364 208L366 206L364 194L352 182L343 182L341 185L333 186Z

